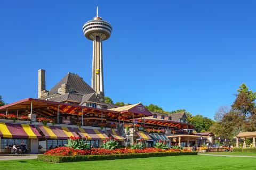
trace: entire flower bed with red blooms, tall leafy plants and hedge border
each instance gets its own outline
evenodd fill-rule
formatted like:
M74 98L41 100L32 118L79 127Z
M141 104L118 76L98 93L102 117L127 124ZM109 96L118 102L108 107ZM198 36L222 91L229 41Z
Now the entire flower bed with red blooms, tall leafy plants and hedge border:
M145 158L178 155L197 155L197 152L182 148L169 148L166 142L158 141L154 148L145 148L143 140L134 143L130 148L120 148L116 139L107 138L101 148L90 148L86 140L80 137L70 137L66 147L59 147L38 155L38 160L54 163L81 162L88 160L110 160Z

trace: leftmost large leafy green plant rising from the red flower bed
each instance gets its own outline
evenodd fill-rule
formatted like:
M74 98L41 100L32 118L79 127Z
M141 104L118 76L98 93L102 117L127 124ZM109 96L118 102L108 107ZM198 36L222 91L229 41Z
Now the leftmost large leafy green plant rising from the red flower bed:
M68 144L66 144L67 147L73 148L73 149L78 149L78 150L82 150L82 149L87 149L89 147L89 144L86 143L87 142L87 137L84 143L83 138L80 137L70 137L68 139Z

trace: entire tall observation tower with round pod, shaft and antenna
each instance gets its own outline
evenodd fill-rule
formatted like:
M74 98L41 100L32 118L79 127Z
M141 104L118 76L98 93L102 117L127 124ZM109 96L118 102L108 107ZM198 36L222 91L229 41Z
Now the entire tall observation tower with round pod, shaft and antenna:
M97 92L100 99L104 99L104 81L103 81L103 59L102 59L102 41L110 37L112 27L107 21L103 21L100 16L88 21L83 26L84 36L93 41L92 54L92 88Z

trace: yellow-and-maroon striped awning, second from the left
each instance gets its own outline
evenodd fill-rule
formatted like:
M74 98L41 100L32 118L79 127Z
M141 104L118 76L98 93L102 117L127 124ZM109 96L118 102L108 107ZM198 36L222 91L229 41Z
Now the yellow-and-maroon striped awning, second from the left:
M78 136L72 128L48 125L39 125L38 128L44 133L46 139L69 139L71 136Z

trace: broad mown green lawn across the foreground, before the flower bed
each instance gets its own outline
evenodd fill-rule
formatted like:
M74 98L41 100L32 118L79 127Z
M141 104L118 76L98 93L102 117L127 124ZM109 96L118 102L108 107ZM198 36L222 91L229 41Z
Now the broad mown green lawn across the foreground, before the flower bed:
M76 163L47 163L30 160L0 161L0 169L255 169L256 158L217 156L170 156Z

